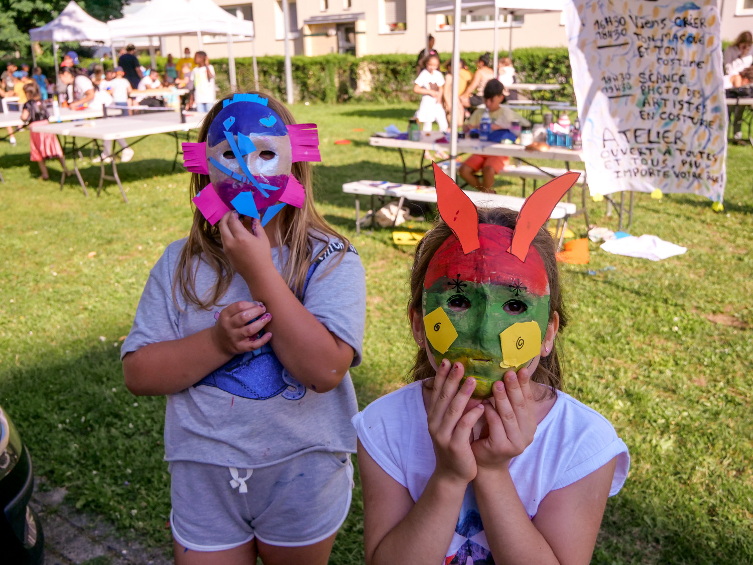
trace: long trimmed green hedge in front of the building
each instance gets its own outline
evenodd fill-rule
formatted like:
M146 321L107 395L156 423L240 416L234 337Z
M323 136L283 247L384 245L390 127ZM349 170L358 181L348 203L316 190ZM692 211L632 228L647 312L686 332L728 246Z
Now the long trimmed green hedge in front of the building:
M481 53L461 53L471 72ZM507 56L506 51L499 53ZM450 60L451 53L441 53L444 63ZM148 55L139 57L142 65L150 66ZM157 57L157 69L163 72L166 57ZM87 67L90 59L81 59L81 66ZM55 75L50 57L38 60L48 77ZM105 61L105 66L111 66ZM217 71L218 89L221 94L230 92L227 59L214 59L212 64ZM535 93L537 99L572 100L572 75L566 47L529 47L513 51L513 64L520 82L562 84L561 90ZM282 56L260 56L257 58L259 87L279 99L285 99L285 59ZM323 56L294 56L291 58L294 83L294 99L298 102L346 102L350 99L394 102L410 100L418 102L419 96L413 93L413 80L416 78L416 56L412 54L367 55L356 58L352 55L329 54ZM236 76L239 90L254 88L254 70L251 57L236 59ZM369 78L370 77L370 78ZM360 80L359 80L360 79ZM359 83L370 83L370 90L362 91Z

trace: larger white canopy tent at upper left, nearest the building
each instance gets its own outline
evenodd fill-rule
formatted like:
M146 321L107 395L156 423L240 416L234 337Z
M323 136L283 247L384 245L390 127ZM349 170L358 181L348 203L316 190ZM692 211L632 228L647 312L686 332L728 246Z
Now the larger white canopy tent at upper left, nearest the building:
M151 47L151 38L154 36L196 35L199 48L201 48L203 47L203 34L227 35L231 88L237 86L233 37L250 37L254 41L252 21L239 20L212 0L152 0L136 14L120 18L120 20L111 20L107 26L113 39L147 36L152 66L155 66L154 47ZM254 53L254 80L258 85L256 53Z

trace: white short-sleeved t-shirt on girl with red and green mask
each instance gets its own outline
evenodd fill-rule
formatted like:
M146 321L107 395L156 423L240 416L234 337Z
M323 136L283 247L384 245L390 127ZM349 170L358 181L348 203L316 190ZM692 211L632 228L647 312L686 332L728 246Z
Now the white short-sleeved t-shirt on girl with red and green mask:
M418 501L436 459L428 434L421 382L410 383L368 405L352 423L371 458ZM609 496L620 491L630 467L627 446L598 412L564 392L536 428L532 444L510 462L518 496L533 518L551 490L566 487L617 457ZM447 557L478 563L491 557L472 484L463 499ZM446 562L449 562L447 560Z

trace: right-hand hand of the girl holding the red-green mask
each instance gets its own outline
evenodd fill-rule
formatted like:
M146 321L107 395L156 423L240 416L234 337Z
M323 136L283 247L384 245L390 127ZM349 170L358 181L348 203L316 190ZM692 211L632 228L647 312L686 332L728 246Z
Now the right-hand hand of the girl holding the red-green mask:
M480 469L506 468L533 441L536 416L530 383L529 369L523 368L517 375L508 371L504 383L497 381L492 386L496 408L484 401L486 426L471 444Z

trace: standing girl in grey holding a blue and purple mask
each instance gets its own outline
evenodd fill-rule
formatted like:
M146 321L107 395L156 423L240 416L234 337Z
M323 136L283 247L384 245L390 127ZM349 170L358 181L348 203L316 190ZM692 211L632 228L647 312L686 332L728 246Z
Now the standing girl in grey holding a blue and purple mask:
M365 277L312 202L314 124L235 94L184 144L197 205L123 342L167 395L175 563L327 563L348 513Z

